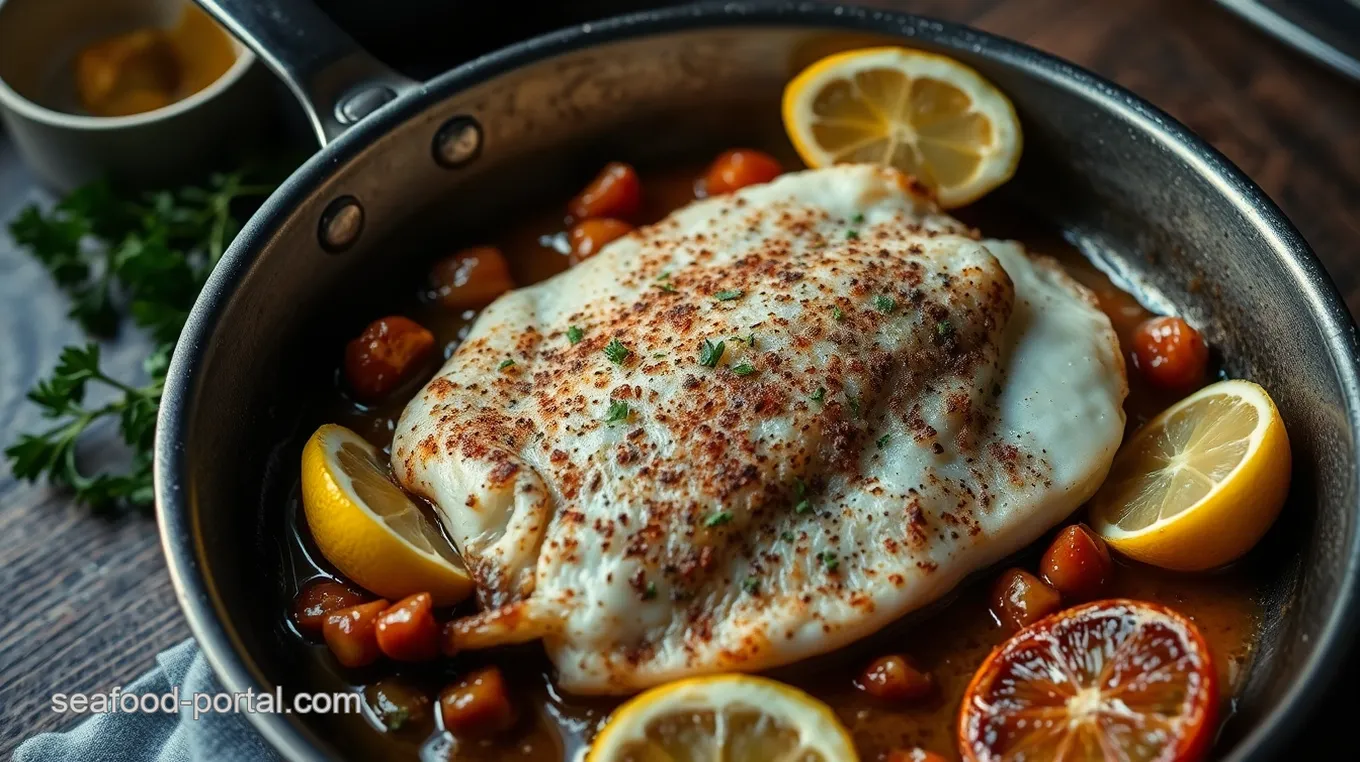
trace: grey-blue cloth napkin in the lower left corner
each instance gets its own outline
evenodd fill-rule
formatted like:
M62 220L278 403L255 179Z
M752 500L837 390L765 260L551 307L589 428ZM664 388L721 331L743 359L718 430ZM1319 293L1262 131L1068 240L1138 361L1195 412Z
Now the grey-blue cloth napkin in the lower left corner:
M156 655L156 668L122 693L181 697L223 691L193 640ZM235 713L208 712L193 718L193 706L178 713L91 714L64 733L42 733L23 742L14 762L275 762L279 754L250 721Z

